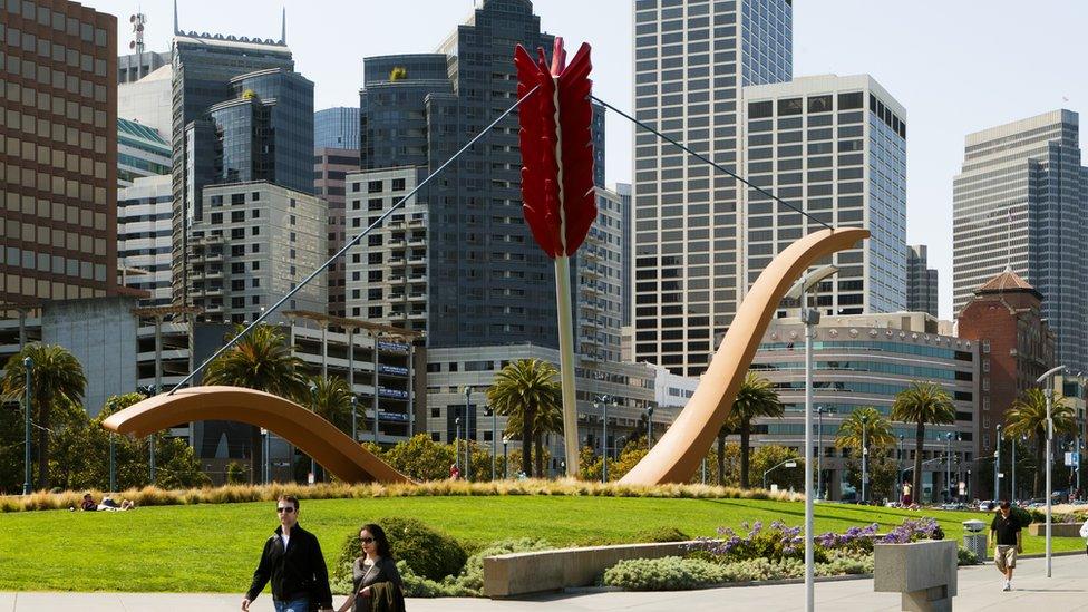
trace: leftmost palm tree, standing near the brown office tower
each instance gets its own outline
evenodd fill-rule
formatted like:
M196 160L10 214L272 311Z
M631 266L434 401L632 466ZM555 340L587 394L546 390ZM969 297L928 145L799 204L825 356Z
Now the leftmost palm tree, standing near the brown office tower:
M26 392L27 371L22 360L27 357L33 362L30 401L33 405L31 408L37 411L38 486L49 488L49 425L52 410L61 402L81 404L87 378L79 360L64 347L38 342L27 344L8 359L3 381L0 382L0 392L12 400L21 399Z

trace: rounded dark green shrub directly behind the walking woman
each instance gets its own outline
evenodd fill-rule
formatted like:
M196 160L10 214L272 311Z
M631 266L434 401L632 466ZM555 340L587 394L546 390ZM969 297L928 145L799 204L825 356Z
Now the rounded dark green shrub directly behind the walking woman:
M394 558L404 561L416 576L439 582L459 574L465 566L465 548L445 533L414 518L382 518L376 523L389 537ZM359 533L353 532L340 547L332 576L336 582L351 583L351 564L359 554Z

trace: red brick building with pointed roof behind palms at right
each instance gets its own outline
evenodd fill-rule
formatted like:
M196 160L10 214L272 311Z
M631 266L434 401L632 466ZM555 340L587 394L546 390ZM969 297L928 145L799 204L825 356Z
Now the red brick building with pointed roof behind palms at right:
M1004 421L1006 410L1053 367L1055 334L1042 318L1041 304L1042 294L1006 269L975 290L960 313L960 338L975 341L981 354L975 438L980 458L993 455L997 426Z

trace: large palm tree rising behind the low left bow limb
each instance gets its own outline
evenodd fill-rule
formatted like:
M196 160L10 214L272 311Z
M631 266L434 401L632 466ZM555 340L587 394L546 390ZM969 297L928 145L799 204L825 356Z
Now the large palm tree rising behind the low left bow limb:
M242 329L239 326L235 333ZM308 405L302 368L302 360L291 353L283 334L272 326L261 324L208 365L204 385L246 387ZM260 474L258 466L263 463L260 427L250 428L250 478L255 483Z

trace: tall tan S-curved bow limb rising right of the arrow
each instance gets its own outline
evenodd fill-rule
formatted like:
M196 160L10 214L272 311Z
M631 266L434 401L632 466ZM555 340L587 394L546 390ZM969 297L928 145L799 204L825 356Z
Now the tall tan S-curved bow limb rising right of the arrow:
M849 249L867 230L820 230L790 244L748 291L699 387L676 422L623 478L623 484L687 483L710 450L778 303L816 260Z

